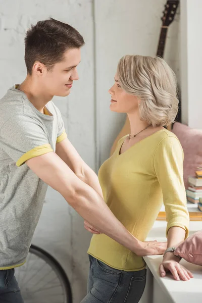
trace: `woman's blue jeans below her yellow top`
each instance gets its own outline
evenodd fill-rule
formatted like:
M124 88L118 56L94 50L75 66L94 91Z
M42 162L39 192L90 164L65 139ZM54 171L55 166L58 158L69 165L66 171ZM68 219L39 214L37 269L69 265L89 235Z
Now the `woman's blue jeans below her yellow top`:
M138 303L146 283L146 269L114 269L89 255L87 295L81 303Z

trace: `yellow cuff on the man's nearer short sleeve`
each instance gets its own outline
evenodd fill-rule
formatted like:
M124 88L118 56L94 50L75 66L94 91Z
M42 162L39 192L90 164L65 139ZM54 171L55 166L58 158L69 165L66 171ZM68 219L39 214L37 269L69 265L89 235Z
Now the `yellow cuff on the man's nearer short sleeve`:
M50 144L44 144L41 146L34 147L33 149L27 151L26 154L24 154L20 159L17 161L16 165L21 166L23 165L27 160L38 157L47 153L50 153L51 151L54 151Z

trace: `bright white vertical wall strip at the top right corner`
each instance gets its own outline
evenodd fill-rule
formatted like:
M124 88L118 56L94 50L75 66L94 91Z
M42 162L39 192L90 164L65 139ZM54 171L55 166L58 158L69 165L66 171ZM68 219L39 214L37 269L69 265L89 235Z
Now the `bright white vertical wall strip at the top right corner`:
M181 1L181 85L182 122L192 128L202 129L201 70L202 41L200 23L202 2Z

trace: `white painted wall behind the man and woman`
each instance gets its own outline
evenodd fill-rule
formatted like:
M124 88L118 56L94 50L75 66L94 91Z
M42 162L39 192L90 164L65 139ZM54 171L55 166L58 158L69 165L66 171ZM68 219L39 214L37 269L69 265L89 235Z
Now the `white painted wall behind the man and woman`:
M86 163L98 168L108 158L125 119L109 110L107 91L113 84L118 60L125 54L156 54L164 3L165 0L0 0L0 97L26 76L24 35L31 23L53 17L76 27L86 42L78 69L80 80L69 97L54 99L70 140ZM165 59L179 78L178 19L179 16L169 28ZM83 220L59 193L49 189L33 242L51 252L65 268L74 303L79 303L86 292L89 240Z

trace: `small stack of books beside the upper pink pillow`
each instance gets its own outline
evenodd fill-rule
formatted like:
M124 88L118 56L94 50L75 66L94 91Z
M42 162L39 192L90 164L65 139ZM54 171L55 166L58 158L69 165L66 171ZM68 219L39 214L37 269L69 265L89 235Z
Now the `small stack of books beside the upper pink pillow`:
M186 190L187 200L191 203L199 203L199 198L202 200L202 176L188 177L189 187Z

